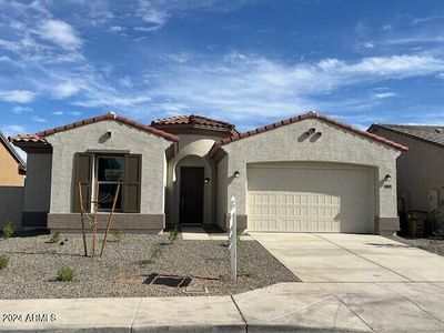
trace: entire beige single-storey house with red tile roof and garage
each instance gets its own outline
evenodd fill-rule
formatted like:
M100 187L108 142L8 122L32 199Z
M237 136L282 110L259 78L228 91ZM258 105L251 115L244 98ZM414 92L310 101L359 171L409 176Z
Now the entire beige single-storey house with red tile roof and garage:
M11 141L28 152L24 225L79 230L80 182L87 208L121 184L113 223L132 232L226 229L232 196L251 231L398 229L396 159L406 148L316 113L246 133L199 115L144 125L108 113Z

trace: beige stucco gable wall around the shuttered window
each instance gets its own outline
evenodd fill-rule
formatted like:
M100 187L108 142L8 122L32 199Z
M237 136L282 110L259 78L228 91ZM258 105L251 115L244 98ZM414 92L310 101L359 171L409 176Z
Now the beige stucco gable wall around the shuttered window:
M112 132L111 138L105 137L108 131ZM97 150L141 154L141 213L163 214L165 149L172 142L114 120L54 133L46 139L53 149L50 213L72 211L74 154Z

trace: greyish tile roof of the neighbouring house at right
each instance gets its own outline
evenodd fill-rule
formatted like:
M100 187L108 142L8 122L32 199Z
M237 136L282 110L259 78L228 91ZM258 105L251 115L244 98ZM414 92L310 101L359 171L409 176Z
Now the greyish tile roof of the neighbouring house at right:
M377 128L444 148L443 125L405 125L374 123L369 128L367 131L373 132Z

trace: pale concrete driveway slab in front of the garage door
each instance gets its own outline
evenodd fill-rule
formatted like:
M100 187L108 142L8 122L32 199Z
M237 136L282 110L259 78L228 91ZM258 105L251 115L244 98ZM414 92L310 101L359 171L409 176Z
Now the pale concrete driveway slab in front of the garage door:
M251 233L303 282L444 282L444 258L379 235Z

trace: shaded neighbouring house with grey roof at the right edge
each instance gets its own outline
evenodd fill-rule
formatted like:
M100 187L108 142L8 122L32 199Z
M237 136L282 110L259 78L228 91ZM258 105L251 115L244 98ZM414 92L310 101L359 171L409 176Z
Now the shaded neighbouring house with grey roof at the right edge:
M369 132L401 142L397 160L400 211L444 212L444 127L372 124Z

